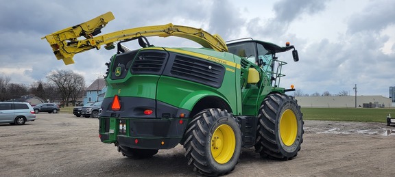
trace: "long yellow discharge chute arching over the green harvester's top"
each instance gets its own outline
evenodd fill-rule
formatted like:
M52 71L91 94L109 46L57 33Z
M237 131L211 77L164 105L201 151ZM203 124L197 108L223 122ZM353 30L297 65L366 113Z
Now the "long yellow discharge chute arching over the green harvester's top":
M101 36L95 36L100 33L101 28L105 27L107 23L113 19L115 19L115 17L112 13L107 12L106 14L93 18L91 21L51 33L42 39L47 39L52 47L53 54L56 55L58 60L63 59L64 64L73 64L73 56L76 53L82 53L90 49L100 49L100 46L103 44L106 44L105 48L107 49L110 48L114 42L138 38L139 36L159 36L163 38L177 36L193 40L215 51L228 51L224 40L219 35L211 35L202 29L173 25L171 23L167 25L125 29ZM77 39L82 36L85 39Z

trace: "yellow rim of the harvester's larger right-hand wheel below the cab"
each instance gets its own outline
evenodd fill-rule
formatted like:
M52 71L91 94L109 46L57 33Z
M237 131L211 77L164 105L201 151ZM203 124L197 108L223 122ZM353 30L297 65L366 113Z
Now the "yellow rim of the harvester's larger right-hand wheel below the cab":
M285 146L291 146L298 135L298 121L296 115L291 109L284 111L280 118L280 137Z

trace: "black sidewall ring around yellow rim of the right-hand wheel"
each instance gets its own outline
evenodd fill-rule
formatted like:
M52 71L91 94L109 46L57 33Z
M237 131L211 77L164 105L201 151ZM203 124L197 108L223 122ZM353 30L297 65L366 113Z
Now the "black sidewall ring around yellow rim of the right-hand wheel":
M284 111L286 111L287 109L294 112L296 116L296 122L298 123L298 133L296 135L294 144L292 144L291 146L286 146L283 143L283 140L281 139L280 136L280 127L279 127L281 116L283 115ZM278 136L276 136L276 141L278 142L278 146L280 146L278 148L281 151L281 153L284 154L285 156L295 156L298 153L300 144L302 144L302 134L303 134L302 113L300 112L300 109L298 109L298 105L294 100L286 100L280 105L280 109L278 110L277 116L278 118L276 118L276 130Z

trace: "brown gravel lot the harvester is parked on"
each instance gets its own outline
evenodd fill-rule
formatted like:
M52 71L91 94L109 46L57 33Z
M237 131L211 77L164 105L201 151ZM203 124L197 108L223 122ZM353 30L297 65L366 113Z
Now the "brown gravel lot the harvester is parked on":
M23 126L0 124L0 176L200 176L182 146L132 160L98 137L98 120L39 113ZM228 176L395 176L395 126L305 121L304 142L291 161L242 150Z

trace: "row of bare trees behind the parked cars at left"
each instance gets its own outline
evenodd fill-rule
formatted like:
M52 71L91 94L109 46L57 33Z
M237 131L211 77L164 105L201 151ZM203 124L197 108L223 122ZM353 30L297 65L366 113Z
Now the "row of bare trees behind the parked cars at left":
M75 106L78 98L84 96L85 79L72 70L49 72L47 81L34 81L29 85L12 83L11 77L0 76L0 101L13 100L21 96L32 95L44 100L61 100L65 106Z

